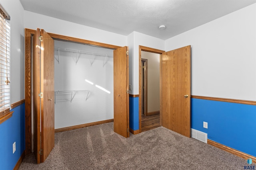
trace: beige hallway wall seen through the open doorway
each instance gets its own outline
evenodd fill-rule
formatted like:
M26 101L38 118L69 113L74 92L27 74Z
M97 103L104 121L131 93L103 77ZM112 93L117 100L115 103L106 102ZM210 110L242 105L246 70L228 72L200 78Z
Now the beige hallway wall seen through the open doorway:
M160 55L141 52L142 59L148 59L148 113L160 111Z

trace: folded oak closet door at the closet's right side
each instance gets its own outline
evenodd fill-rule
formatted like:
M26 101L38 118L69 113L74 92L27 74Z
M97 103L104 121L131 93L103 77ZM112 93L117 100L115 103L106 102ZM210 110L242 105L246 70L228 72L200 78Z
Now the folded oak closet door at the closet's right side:
M129 137L128 47L114 50L114 132Z

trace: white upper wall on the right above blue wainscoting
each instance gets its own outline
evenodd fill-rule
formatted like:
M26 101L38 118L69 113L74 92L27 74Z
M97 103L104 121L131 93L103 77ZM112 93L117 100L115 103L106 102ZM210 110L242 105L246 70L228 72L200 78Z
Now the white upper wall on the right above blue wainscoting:
M256 4L167 39L191 45L192 95L256 100Z

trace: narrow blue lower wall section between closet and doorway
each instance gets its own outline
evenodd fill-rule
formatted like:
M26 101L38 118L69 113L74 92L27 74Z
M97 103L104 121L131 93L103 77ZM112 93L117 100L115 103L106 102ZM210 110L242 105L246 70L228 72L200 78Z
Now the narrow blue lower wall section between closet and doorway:
M129 97L129 126L132 130L139 130L139 98Z

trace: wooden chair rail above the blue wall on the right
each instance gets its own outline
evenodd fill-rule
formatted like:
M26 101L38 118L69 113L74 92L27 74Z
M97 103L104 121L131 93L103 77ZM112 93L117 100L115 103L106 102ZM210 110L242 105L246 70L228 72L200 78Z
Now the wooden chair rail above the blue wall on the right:
M215 97L194 96L194 95L192 95L191 98L204 99L204 100L214 100L214 101L220 101L220 102L238 103L238 104L256 105L256 101L250 101L250 100L237 100L237 99L215 98Z

